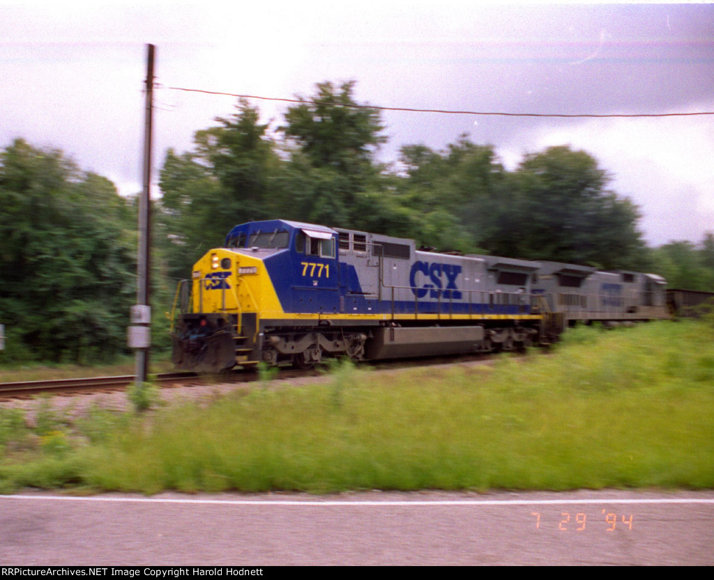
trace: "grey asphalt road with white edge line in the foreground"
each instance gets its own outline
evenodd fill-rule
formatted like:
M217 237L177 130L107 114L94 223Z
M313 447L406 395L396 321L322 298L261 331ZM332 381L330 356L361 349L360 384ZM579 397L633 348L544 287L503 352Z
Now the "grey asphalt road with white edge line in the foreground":
M712 565L714 492L0 496L2 565Z

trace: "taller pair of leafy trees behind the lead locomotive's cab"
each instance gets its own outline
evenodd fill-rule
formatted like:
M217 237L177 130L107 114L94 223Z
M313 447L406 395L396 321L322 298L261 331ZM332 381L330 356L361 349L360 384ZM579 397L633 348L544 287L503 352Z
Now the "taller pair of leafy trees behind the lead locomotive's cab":
M412 233L411 210L389 194L391 178L373 161L386 141L379 115L354 101L353 86L319 83L316 96L286 112L283 143L240 101L235 116L196 133L192 153L169 151L159 221L171 276L185 277L198 255L248 220Z

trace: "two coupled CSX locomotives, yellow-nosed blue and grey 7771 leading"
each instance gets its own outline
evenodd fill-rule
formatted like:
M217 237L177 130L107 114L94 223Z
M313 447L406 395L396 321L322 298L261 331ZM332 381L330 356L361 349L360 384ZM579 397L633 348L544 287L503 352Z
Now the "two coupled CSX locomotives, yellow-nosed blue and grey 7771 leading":
M177 368L521 350L574 322L668 317L656 275L455 255L414 240L265 220L236 225L178 285Z

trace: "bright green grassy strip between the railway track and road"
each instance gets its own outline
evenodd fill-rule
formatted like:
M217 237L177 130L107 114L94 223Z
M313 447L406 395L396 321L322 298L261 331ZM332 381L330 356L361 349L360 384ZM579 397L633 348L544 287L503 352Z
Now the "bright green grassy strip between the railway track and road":
M0 489L155 493L714 487L714 328L568 331L495 365L266 387L149 414L0 412ZM40 424L43 427L39 427Z

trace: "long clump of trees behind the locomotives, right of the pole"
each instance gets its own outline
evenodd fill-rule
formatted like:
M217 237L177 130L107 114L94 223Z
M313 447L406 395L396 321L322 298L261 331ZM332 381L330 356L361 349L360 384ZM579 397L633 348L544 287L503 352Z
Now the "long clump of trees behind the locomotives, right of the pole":
M588 153L553 147L509 172L493 146L464 135L445 151L403 147L403 171L388 173L374 159L386 141L379 112L356 103L354 85L318 83L313 98L299 97L278 128L283 143L240 101L235 116L196 133L193 153L169 151L161 207L172 273L186 275L236 223L276 217L442 250L645 265L638 208L608 189L609 176Z

